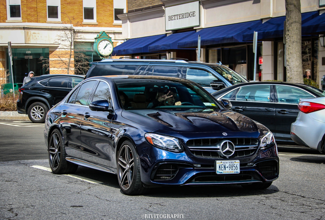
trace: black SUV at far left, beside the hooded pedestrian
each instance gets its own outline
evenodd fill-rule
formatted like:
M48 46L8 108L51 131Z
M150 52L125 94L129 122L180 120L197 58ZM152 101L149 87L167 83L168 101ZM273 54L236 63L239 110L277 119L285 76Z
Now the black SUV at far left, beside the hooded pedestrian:
M79 75L41 75L18 89L17 112L27 114L34 123L42 123L50 108L59 103L84 79Z

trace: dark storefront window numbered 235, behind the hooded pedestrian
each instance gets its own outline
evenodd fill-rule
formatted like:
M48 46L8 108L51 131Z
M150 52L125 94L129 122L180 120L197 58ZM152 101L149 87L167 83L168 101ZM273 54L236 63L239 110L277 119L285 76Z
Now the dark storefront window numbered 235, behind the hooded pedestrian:
M49 74L47 68L43 67L40 59L49 59L49 48L12 48L12 72L14 83L22 85L24 77L30 71L34 76ZM9 55L7 50L7 67L9 67ZM8 68L9 69L9 68ZM11 71L9 71L11 74ZM6 82L11 83L11 75L7 75Z

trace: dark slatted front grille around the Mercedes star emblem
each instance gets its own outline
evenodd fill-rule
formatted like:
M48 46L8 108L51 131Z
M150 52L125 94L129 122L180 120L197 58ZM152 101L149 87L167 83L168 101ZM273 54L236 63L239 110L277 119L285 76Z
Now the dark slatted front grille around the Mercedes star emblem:
M223 158L217 143L224 140L229 140L235 145L235 153L229 158L253 155L259 147L259 140L251 138L195 139L189 140L186 144L194 156L216 159Z

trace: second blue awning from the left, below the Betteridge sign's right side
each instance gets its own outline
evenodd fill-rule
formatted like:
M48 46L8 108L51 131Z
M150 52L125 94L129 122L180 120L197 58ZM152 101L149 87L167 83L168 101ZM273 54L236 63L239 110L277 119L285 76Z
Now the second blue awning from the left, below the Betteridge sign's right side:
M178 49L177 42L195 33L195 31L190 31L169 35L166 38L162 38L161 40L151 44L149 46L149 51L166 51L169 49Z

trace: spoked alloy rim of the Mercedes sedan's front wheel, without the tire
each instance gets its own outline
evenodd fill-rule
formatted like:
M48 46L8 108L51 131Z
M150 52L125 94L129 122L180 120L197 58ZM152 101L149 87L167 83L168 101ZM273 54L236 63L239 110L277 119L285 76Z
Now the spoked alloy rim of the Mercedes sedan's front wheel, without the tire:
M118 177L120 186L127 190L133 180L134 160L132 150L129 145L124 145L119 152Z

